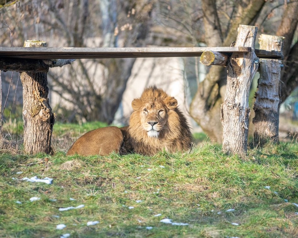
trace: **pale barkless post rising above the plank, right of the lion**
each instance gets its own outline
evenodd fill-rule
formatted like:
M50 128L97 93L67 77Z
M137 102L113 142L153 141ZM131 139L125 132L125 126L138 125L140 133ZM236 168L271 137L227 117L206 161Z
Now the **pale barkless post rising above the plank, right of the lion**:
M253 76L258 70L258 57L254 52L257 29L255 26L239 25L235 46L251 47L252 52L233 53L227 65L226 95L221 105L222 150L226 153L247 153L248 95Z

